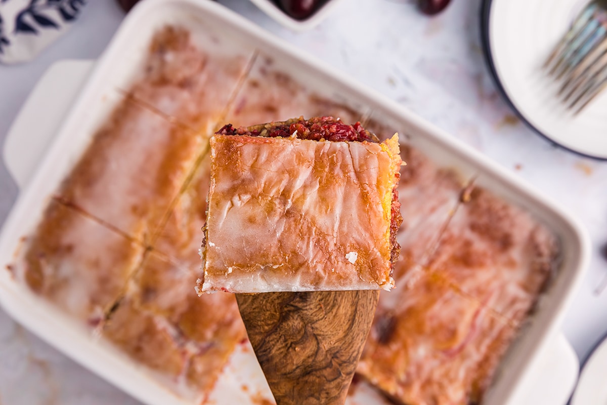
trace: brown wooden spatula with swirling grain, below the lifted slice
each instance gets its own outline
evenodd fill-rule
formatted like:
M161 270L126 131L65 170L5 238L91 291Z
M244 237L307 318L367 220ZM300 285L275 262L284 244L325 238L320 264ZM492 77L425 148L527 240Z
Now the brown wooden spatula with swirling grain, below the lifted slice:
M342 405L379 291L236 294L277 405Z

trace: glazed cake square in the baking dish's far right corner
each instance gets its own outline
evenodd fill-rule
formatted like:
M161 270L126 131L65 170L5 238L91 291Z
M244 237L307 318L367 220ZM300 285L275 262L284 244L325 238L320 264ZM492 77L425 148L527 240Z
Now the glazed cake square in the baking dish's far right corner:
M428 267L518 325L548 282L557 254L557 240L543 225L476 187L459 206Z

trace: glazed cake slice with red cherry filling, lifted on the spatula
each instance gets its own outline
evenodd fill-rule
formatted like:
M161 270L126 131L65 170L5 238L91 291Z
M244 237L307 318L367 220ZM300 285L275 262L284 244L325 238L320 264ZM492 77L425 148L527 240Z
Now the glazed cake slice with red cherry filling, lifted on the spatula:
M200 291L390 290L398 135L303 118L211 138Z

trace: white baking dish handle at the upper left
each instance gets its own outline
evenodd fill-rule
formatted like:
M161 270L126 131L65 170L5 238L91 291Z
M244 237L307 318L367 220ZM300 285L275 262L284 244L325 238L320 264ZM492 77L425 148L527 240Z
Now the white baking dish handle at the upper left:
M63 123L94 61L58 61L44 72L4 141L4 163L21 189Z

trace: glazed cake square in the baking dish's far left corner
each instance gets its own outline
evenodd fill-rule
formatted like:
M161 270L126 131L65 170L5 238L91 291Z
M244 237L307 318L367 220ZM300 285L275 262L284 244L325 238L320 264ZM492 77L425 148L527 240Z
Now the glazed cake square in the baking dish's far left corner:
M137 269L144 248L51 200L23 255L19 275L38 294L97 324Z

